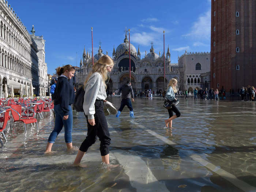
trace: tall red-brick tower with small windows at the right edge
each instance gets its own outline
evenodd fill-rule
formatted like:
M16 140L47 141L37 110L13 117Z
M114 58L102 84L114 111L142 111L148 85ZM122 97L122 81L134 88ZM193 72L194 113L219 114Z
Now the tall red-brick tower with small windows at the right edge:
M211 86L256 85L256 1L212 0Z

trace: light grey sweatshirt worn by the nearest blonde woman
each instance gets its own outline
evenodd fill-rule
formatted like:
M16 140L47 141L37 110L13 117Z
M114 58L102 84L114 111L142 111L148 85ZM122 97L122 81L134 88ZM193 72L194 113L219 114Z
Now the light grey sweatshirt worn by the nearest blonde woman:
M107 97L101 74L98 72L93 73L87 81L84 91L83 110L88 119L93 119L96 99L105 100Z

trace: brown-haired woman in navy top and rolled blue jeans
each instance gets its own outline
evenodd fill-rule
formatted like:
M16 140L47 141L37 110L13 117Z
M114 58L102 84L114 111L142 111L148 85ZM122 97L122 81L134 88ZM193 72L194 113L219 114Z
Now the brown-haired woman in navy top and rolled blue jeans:
M74 149L72 146L72 124L73 113L71 104L74 102L75 93L74 88L68 83L68 79L74 77L75 68L72 65L65 65L57 68L59 76L56 88L54 90L54 112L55 125L52 133L49 136L45 153L52 151L53 143L60 133L61 129L65 129L65 142L68 150Z

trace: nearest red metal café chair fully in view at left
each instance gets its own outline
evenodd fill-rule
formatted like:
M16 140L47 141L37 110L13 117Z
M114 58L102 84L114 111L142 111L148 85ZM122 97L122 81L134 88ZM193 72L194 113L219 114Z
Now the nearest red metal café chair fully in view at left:
M11 112L12 112L12 117L14 119L14 124L22 122L23 127L25 127L25 132L27 133L26 124L37 123L37 119L36 118L22 118L21 117L22 107L23 106L21 106L21 105L11 105ZM26 108L26 107L23 107L23 108ZM29 108L27 108L27 109L33 111L32 109L29 109ZM34 116L35 116L35 114L33 114L33 117ZM38 129L38 124L37 124L37 129Z

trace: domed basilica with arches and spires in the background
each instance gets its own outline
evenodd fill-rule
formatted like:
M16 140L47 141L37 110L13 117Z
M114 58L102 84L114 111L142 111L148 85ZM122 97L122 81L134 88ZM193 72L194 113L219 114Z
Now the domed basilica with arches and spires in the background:
M131 52L131 83L133 91L140 93L145 90L157 91L164 90L164 59L163 54L156 53L153 45L149 53L145 51L145 56L140 59L140 49L130 44ZM107 53L106 53L107 54ZM99 46L98 53L94 55L94 63L102 57L103 50ZM109 82L107 83L107 91L109 93L116 91L127 80L129 80L129 42L127 35L125 35L123 43L113 48L112 58L114 60L114 68L110 74ZM80 61L80 69L76 71L76 84L82 85L86 79L87 74L93 66L92 57L84 50L83 59ZM165 56L165 86L171 78L178 80L178 87L180 86L180 72L177 64L171 64L170 50L167 48Z

